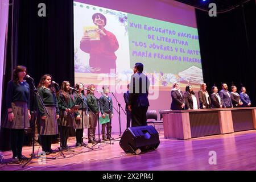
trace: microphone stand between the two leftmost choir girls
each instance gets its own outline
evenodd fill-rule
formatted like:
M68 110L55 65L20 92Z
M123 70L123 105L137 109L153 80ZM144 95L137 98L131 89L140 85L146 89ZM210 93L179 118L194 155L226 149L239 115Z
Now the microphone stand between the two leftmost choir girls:
M44 105L44 102L42 100L42 98L40 97L39 93L38 93L38 90L36 89L35 87L35 82L34 80L31 79L31 82L32 82L32 85L33 85L33 88L34 88L34 96L38 96L42 106L44 107L44 111L46 111L46 114L49 116L49 113L48 111L46 110L46 106ZM35 114L35 110L34 110L34 114ZM35 116L35 115L34 115ZM30 158L27 160L26 163L23 164L22 168L24 168L32 159L40 159L41 157L40 156L35 156L35 121L36 119L33 119L34 123L32 125L32 141L33 141L33 146L32 146L32 154L30 154ZM41 142L40 142L40 145L41 145ZM56 159L56 158L45 158L45 159Z

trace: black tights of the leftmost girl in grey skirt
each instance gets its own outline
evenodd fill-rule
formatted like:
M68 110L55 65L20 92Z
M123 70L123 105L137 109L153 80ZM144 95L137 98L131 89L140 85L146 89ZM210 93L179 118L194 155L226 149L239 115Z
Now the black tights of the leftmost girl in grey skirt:
M24 129L11 129L11 150L13 158L22 155L22 146L24 141Z

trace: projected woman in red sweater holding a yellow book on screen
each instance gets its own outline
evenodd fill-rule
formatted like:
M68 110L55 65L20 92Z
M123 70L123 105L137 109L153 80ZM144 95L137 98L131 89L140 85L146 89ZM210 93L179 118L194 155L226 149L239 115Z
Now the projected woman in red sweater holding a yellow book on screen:
M92 73L112 73L116 71L115 51L119 48L119 44L115 35L107 31L106 17L101 13L95 13L92 16L93 23L98 26L96 32L100 34L100 40L91 40L89 36L83 36L80 42L80 49L90 54L89 65Z

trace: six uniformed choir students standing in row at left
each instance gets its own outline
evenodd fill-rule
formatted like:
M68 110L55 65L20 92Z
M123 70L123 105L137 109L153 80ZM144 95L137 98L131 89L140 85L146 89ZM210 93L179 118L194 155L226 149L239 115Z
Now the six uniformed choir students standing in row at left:
M1 127L10 129L10 143L13 151L13 162L27 160L22 155L24 129L30 127L30 85L24 77L27 68L19 65L14 69L13 80L7 84L6 106L7 115ZM97 143L95 137L99 113L107 118L102 123L102 140L112 140L111 120L113 117L113 101L108 95L109 86L102 86L100 99L94 96L93 84L86 88L77 83L75 90L69 81L63 81L60 88L53 84L51 75L43 75L37 86L39 96L36 96L38 110L39 138L42 150L46 155L52 154L52 136L59 134L60 147L68 150L69 129L76 129L76 146L85 146L83 142L84 129L88 129L88 143ZM72 92L73 91L73 92ZM108 116L108 117L107 117Z

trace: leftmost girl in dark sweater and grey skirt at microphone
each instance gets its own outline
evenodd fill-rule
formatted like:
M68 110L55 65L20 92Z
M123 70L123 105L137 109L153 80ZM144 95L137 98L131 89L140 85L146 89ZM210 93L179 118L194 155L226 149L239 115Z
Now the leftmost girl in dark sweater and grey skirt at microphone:
M27 158L22 155L24 129L30 127L30 85L24 80L27 68L19 65L13 71L13 80L7 84L6 107L8 115L2 127L10 129L13 163Z

